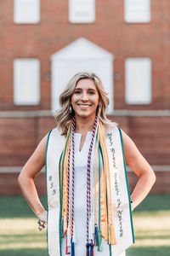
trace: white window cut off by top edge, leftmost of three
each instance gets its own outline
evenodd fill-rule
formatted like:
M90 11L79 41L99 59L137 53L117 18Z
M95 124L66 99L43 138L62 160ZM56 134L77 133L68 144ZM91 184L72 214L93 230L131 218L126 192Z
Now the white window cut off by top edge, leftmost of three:
M38 23L40 0L14 0L14 22L18 24Z

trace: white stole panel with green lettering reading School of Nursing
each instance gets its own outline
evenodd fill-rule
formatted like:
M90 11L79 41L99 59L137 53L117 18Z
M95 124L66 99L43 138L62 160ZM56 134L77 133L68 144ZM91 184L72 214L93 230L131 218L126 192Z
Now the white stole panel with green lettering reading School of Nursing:
M106 135L111 177L111 200L116 245L111 245L111 255L117 256L134 242L133 220L130 195L127 184L127 171L122 145L122 132L111 129Z

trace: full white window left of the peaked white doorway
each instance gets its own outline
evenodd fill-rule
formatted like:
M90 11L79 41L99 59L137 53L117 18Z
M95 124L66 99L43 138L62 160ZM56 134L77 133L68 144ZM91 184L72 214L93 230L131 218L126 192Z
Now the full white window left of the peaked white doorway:
M14 60L14 104L37 105L40 100L40 63L37 59Z

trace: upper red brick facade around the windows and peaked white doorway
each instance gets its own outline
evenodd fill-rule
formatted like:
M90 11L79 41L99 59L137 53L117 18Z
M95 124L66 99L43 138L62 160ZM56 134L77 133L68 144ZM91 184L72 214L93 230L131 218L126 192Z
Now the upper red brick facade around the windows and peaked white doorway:
M84 37L115 55L116 109L167 109L170 107L169 0L151 1L151 21L128 24L124 21L123 0L96 1L94 24L71 24L68 1L41 1L41 20L36 25L17 25L13 21L13 2L1 3L0 110L50 109L50 56L77 38ZM19 107L13 103L13 61L36 57L41 62L41 102L38 106ZM124 61L127 57L149 57L152 61L152 102L129 106L124 95Z

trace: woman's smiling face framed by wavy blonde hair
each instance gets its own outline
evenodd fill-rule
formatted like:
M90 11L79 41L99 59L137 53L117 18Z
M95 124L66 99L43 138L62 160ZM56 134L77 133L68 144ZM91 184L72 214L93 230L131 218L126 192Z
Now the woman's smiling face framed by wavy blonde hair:
M94 117L99 105L99 93L91 79L81 79L71 96L71 105L76 116Z

